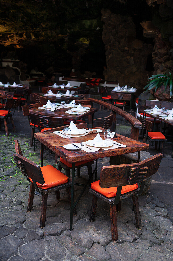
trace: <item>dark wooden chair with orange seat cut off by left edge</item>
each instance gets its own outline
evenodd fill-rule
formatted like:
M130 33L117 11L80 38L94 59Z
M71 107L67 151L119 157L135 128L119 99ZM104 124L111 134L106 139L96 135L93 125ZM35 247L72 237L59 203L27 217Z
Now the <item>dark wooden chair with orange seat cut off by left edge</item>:
M1 120L3 119L5 132L6 132L7 137L9 136L8 126L7 126L7 118L8 117L10 117L13 132L16 133L14 121L13 121L13 118L12 118L13 115L11 113L11 109L16 109L19 106L20 102L21 102L21 98L18 98L18 99L15 99L15 100L12 99L12 98L7 98L5 100L4 110L0 110L0 125L1 125Z

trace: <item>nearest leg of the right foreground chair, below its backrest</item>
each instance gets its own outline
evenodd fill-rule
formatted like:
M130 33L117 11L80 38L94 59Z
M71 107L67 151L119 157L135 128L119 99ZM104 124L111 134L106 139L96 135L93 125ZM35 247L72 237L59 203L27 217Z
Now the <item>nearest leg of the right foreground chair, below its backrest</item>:
M116 205L110 204L110 216L111 216L111 233L113 242L118 241L118 229L117 229L117 211Z

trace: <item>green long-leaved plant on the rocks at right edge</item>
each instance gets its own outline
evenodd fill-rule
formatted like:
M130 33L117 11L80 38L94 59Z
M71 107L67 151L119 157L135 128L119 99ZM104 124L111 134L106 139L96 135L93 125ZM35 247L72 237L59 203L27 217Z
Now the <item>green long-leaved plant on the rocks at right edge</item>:
M172 97L172 75L171 73L168 74L157 74L157 75L152 75L149 78L148 84L145 85L144 89L146 91L150 91L152 88L155 87L155 92L157 91L158 88L161 87L161 85L165 85L165 90L166 87L169 86L169 93L170 93L170 98Z

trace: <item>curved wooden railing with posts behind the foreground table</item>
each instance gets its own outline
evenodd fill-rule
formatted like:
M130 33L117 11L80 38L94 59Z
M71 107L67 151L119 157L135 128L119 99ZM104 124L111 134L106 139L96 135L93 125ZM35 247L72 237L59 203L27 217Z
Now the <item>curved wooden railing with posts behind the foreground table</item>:
M112 122L112 126L111 129L112 131L116 131L116 114L118 113L120 116L122 116L123 118L125 118L125 120L127 120L131 125L131 132L130 132L130 138L133 140L138 140L139 137L139 128L142 128L142 123L137 120L137 118L133 117L131 114L129 114L126 111L123 111L122 109L118 108L117 106L114 106L110 103L107 102L103 102L102 100L97 100L97 99L93 99L93 98L89 98L88 100L90 100L91 102L94 103L98 103L108 109L110 109L113 114L113 122Z

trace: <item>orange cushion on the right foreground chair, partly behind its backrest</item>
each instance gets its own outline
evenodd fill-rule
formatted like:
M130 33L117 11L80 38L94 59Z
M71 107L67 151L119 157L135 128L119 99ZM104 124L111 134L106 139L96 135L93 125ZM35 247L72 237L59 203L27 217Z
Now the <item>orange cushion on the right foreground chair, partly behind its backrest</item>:
M99 192L100 194L106 196L107 198L112 198L116 196L117 193L117 187L111 187L111 188L101 188L99 185L100 180L97 180L93 183L91 183L91 188L94 189L95 191ZM130 192L132 190L135 190L138 188L138 184L134 185L127 185L123 186L121 189L121 194Z

